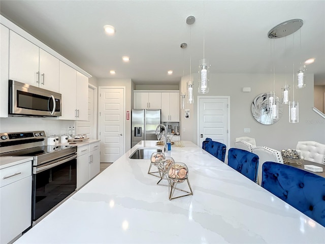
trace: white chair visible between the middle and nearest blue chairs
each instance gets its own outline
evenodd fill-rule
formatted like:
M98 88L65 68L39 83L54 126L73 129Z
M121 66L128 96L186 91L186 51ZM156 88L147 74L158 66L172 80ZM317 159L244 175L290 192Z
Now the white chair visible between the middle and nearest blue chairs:
M259 158L257 169L257 184L262 184L262 166L265 162L275 162L283 164L281 152L267 146L256 146L252 148L252 153L256 154Z

